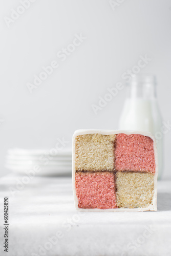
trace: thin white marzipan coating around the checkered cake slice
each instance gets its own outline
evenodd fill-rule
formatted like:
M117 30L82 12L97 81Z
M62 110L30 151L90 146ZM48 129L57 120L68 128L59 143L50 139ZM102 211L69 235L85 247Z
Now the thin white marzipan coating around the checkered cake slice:
M115 209L82 209L78 208L78 199L76 196L76 190L75 190L75 138L78 135L85 135L85 134L102 134L102 135L111 135L111 134L120 134L124 133L127 135L131 134L140 134L143 136L147 136L152 138L154 141L154 153L155 153L155 162L156 162L156 172L154 175L154 196L153 196L153 202L151 205L145 208L115 208ZM73 194L74 194L74 202L75 202L75 208L78 211L147 211L147 210L157 210L157 176L158 176L158 156L157 156L157 145L155 137L148 132L142 132L142 131L124 131L124 130L77 130L75 131L73 135L73 152L72 152L72 182L73 182Z

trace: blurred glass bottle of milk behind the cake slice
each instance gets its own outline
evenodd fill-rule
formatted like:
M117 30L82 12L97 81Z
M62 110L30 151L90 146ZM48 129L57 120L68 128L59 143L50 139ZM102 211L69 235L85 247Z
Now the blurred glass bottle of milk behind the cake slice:
M152 75L135 75L128 84L128 97L124 102L119 121L120 130L139 130L151 132L157 137L161 134L162 117L156 97L156 79ZM159 159L158 179L162 174L163 136L157 137Z

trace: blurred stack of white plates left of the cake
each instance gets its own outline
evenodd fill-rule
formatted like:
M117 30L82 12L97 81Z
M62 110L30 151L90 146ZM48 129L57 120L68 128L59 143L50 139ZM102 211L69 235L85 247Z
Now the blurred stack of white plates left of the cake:
M68 175L72 169L72 150L8 150L5 167L13 172L25 174L33 170L36 175Z

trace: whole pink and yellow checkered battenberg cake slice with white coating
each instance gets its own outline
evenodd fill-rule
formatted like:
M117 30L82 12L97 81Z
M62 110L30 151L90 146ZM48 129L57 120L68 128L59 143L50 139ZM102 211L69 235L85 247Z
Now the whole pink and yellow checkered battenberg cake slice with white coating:
M157 210L158 160L152 134L78 130L73 193L80 211Z

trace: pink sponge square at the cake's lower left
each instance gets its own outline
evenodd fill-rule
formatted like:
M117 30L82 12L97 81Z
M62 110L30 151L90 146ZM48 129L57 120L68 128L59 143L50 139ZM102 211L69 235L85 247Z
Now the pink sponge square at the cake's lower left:
M75 174L78 207L87 209L117 208L114 174L82 173Z

